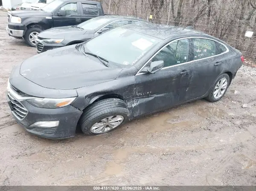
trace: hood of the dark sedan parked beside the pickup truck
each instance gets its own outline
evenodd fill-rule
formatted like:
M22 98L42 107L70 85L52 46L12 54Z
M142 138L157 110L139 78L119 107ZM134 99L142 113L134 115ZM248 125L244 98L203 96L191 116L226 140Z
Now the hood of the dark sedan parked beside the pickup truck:
M72 26L63 26L63 27L56 27L52 29L48 29L45 31L42 31L40 34L38 34L38 37L41 38L64 38L67 35L82 35L85 34L87 31L81 30L76 27Z

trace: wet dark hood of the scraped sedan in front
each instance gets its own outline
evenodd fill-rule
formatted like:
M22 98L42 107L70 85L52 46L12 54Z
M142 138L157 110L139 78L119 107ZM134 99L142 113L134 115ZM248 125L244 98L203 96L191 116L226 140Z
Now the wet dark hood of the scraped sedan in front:
M120 68L108 68L97 58L85 56L76 45L49 50L25 60L20 74L52 89L76 89L116 79Z

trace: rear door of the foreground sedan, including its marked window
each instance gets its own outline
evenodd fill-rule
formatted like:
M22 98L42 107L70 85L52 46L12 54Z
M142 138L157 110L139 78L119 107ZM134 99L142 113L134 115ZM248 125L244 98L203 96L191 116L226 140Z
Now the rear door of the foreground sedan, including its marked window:
M192 62L189 63L192 78L187 91L188 100L207 93L225 67L223 60L225 57L222 54L228 51L224 45L211 39L191 38L190 40L193 56Z

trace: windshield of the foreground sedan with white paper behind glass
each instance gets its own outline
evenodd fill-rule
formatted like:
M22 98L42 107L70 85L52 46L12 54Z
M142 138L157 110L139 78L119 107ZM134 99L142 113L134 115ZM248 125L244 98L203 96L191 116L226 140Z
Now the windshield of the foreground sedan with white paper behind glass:
M116 28L84 43L91 53L122 67L136 64L160 39L124 28Z

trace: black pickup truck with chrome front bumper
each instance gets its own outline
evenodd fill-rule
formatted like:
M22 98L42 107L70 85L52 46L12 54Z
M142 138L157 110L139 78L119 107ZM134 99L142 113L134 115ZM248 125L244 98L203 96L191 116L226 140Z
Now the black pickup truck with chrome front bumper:
M35 36L46 29L74 26L93 17L104 15L102 5L89 0L54 0L38 10L8 11L8 34L24 38L35 47Z

